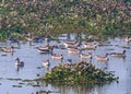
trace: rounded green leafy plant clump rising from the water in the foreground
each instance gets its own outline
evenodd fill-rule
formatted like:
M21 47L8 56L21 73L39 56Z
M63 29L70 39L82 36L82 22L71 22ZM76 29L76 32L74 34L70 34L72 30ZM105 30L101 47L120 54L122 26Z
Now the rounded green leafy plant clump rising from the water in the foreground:
M92 63L80 61L78 63L58 64L48 71L44 78L52 84L105 84L117 81L118 78L111 71L103 71Z

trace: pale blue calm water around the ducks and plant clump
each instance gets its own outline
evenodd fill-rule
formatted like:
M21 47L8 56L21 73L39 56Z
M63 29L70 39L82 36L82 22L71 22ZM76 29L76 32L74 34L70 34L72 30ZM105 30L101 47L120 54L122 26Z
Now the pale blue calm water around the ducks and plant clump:
M63 45L67 35L63 34L59 37L61 40L51 40L50 45L60 46ZM84 37L84 36L83 36ZM75 34L71 35L71 39L75 39ZM84 42L82 43L84 44ZM115 74L119 77L119 83L112 82L103 86L56 86L51 84L45 84L43 82L23 82L22 80L33 80L41 77L47 70L41 68L41 62L46 59L49 59L51 67L57 66L60 60L51 59L50 54L39 54L37 47L45 45L44 43L33 43L33 46L28 42L21 42L20 48L15 48L15 52L5 54L0 52L0 94L36 94L36 91L55 91L61 93L51 93L51 94L131 94L131 43L123 42L120 37L108 38L107 40L102 42L104 46L97 46L96 50L83 50L82 52L86 54L88 51L93 52L93 60L97 68L105 69L107 71L115 71ZM9 43L0 43L1 47L9 46ZM17 44L11 44L17 46ZM124 46L124 47L123 47ZM128 48L126 48L128 47ZM105 52L122 52L127 50L127 57L115 58L108 56L109 61L107 64L104 62L97 62L95 59L96 55L104 55ZM79 55L70 55L67 49L57 49L53 50L55 54L63 54L63 62L68 62L68 59L72 59L72 62L80 61ZM4 56L3 56L4 55ZM7 55L7 56L5 56ZM19 57L22 61L25 62L25 66L21 69L16 69L15 58ZM40 69L38 68L40 67ZM19 81L12 81L9 79L21 79ZM40 85L32 86L29 84ZM13 85L21 85L22 87L13 87Z

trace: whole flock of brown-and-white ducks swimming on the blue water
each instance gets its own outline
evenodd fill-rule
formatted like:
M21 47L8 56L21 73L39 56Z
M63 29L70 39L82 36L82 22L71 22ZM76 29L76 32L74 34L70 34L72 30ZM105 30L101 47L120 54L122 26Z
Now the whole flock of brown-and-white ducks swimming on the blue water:
M131 42L131 38L127 36L127 37L123 38L123 40L129 43L129 42ZM97 40L85 43L85 44L81 44L80 40L63 43L64 48L68 50L69 54L79 54L80 58L90 59L90 60L93 58L92 52L83 54L82 50L83 49L96 49L97 44L98 44ZM45 46L39 46L38 47L38 51L40 54L50 52L52 59L62 60L63 59L63 54L60 54L60 55L53 54L53 49L55 49L55 47L50 46L49 43L47 43ZM13 46L3 47L2 50L4 52L13 52L14 47ZM115 57L126 57L126 50L123 50L122 52L111 52L111 54L106 52L103 56L96 55L96 60L107 62L109 60L108 57L107 57L108 55L111 55L111 56L115 56ZM71 60L70 60L70 62L71 62ZM20 58L17 57L15 59L15 66L23 67L24 61L21 61ZM49 66L50 66L49 59L43 61L43 67L49 67Z

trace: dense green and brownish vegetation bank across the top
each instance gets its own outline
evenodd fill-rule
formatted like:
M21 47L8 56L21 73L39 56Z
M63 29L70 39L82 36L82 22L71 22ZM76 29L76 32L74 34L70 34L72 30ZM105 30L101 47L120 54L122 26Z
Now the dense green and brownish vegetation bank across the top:
M130 33L130 0L2 0L0 39L26 33Z

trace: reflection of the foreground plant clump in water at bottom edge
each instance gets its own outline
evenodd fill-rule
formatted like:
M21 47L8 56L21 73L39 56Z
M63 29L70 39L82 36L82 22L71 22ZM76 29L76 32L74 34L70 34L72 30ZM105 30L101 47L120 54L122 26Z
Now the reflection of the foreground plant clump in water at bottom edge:
M105 94L103 85L51 85L58 89L61 94Z

